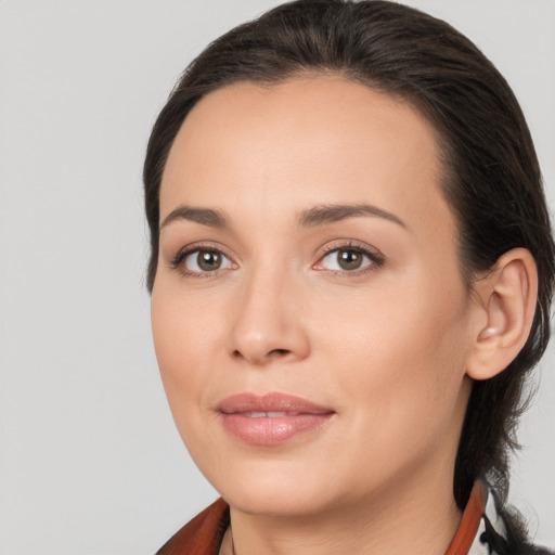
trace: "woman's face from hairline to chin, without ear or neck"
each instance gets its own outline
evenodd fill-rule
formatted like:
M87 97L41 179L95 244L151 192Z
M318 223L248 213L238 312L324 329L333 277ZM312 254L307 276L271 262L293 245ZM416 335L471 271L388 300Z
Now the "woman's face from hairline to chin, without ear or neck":
M179 431L232 506L452 487L473 301L440 180L427 121L340 77L235 85L185 119L154 341Z

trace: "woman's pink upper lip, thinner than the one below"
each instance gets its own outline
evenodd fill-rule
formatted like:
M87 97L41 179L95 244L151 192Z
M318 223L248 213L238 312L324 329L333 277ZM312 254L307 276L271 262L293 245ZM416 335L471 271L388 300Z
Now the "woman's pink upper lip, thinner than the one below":
M301 397L271 392L266 395L237 393L222 399L216 406L223 414L248 412L287 412L297 414L330 414L333 409L322 406Z

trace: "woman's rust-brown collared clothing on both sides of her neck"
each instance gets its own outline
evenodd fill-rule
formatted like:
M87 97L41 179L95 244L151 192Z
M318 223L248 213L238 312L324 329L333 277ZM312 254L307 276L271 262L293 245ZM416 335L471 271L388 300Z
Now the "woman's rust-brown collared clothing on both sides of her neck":
M229 506L219 499L181 528L156 555L218 555L229 524ZM446 555L504 555L504 535L493 495L478 481Z

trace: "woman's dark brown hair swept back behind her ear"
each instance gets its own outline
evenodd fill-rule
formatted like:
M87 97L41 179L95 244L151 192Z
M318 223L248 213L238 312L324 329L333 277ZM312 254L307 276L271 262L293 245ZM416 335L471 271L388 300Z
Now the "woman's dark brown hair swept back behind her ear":
M494 486L504 503L526 377L550 337L555 249L518 102L493 64L446 22L383 0L298 0L209 44L181 76L147 146L149 289L158 258L162 176L189 112L204 95L232 83L271 85L304 74L339 75L404 99L430 121L439 138L442 190L457 221L461 272L470 289L514 247L527 248L535 260L539 293L529 338L504 372L473 384L455 462L461 508L477 478ZM522 534L516 524L513 529Z

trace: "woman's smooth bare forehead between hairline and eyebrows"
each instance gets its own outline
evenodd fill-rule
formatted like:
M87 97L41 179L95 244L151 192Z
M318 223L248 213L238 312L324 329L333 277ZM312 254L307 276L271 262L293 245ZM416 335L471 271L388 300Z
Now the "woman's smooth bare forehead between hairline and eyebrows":
M339 76L245 82L206 95L184 120L160 217L179 203L244 211L257 198L257 210L348 202L450 219L440 181L436 132L409 102Z

